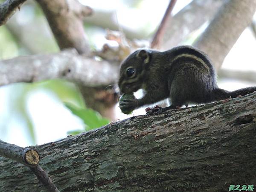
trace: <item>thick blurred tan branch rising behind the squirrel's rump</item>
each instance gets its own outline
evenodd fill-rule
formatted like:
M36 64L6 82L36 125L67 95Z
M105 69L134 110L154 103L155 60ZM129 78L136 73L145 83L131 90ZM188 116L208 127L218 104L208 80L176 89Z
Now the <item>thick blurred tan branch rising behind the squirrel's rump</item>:
M255 10L255 0L229 0L194 46L206 52L215 68L219 69L236 40L251 23Z

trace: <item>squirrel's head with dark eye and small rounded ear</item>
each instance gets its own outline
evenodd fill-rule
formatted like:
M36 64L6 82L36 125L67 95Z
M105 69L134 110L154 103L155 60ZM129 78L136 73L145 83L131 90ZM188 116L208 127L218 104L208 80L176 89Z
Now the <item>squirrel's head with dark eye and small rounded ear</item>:
M133 52L122 62L118 81L121 94L134 93L142 88L150 59L151 51L141 49Z

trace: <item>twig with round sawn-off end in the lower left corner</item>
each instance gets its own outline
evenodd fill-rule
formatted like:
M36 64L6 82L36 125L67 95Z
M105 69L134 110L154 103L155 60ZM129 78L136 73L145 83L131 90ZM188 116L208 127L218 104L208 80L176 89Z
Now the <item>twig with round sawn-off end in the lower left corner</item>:
M25 166L28 166L49 192L59 192L44 169L39 165L40 157L37 151L0 140L0 156L15 160Z

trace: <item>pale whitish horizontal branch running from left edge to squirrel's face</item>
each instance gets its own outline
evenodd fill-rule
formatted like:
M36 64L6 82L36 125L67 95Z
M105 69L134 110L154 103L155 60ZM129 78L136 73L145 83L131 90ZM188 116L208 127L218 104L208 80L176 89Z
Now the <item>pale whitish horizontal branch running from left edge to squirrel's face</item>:
M96 61L69 49L0 61L0 86L63 78L87 87L105 87L116 82L118 70L118 66L107 61Z

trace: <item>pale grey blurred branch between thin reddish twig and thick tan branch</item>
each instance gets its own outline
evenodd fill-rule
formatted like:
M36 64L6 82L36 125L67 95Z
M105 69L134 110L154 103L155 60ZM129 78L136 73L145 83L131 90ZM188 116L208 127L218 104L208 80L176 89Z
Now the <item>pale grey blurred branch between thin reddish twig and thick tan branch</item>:
M172 17L163 35L162 49L170 49L182 44L188 35L211 20L226 0L193 0Z

